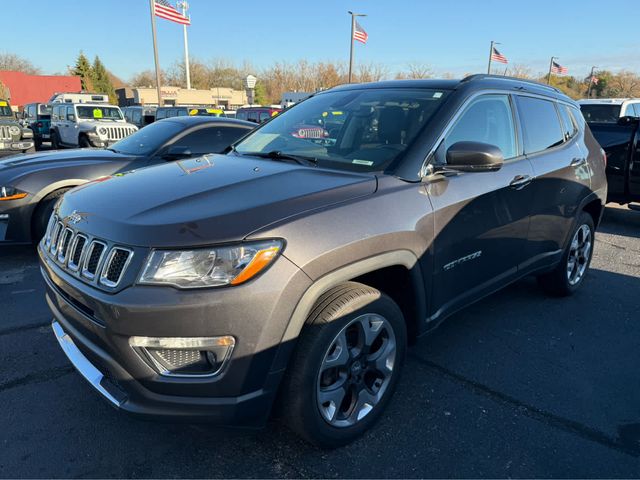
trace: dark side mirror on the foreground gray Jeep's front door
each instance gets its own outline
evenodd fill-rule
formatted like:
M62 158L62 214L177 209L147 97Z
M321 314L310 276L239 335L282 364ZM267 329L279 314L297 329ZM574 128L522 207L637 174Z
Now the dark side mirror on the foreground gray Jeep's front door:
M481 142L457 142L447 150L446 170L457 172L493 172L504 164L502 150Z

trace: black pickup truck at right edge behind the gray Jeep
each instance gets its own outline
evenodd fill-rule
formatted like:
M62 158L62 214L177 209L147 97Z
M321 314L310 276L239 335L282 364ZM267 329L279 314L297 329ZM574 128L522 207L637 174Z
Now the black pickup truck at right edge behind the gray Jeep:
M617 123L589 123L593 136L607 153L609 202L640 202L639 126L639 119L633 117L621 117Z

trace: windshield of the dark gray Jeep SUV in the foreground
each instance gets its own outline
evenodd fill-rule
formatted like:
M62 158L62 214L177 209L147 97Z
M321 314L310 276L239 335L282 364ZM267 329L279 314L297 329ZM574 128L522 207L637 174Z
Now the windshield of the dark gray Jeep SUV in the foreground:
M329 168L382 170L402 155L446 96L408 88L319 94L274 117L235 150L313 158Z

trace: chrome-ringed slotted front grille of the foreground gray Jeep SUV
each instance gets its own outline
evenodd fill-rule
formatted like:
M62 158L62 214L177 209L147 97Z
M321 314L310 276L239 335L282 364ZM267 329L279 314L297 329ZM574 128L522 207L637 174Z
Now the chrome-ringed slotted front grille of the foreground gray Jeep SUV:
M133 250L77 232L56 214L49 220L41 245L70 274L108 289L120 284L133 258Z

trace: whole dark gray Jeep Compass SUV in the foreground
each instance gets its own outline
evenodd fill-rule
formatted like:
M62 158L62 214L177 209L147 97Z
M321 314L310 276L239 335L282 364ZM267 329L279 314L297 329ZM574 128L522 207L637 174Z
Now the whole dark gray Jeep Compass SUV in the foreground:
M332 111L331 142L294 135ZM55 336L113 406L242 426L275 408L335 447L449 315L525 275L580 288L606 192L600 146L554 88L346 85L226 155L67 193L39 255Z

